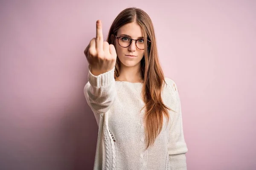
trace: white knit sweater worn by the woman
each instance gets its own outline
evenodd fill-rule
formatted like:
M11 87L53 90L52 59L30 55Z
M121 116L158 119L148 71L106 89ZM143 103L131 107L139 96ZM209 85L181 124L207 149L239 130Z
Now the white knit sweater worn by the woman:
M115 81L114 68L99 76L88 73L84 96L99 126L94 170L186 170L180 97L172 79L162 99L169 111L154 145L145 150L143 83Z

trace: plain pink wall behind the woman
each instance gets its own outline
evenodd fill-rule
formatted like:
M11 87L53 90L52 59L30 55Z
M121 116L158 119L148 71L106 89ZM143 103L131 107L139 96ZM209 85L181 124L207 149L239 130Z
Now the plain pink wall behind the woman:
M256 1L1 1L0 169L90 170L84 48L124 8L151 17L177 83L188 170L256 169Z

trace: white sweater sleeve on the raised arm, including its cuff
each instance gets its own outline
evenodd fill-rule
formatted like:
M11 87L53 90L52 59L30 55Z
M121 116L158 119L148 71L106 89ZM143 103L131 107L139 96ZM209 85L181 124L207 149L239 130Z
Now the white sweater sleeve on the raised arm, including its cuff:
M106 113L116 96L114 70L94 76L89 69L84 96L94 113Z

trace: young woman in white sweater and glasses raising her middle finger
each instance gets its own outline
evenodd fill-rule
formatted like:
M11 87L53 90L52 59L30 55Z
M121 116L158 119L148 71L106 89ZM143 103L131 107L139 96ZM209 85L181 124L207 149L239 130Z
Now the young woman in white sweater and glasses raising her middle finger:
M99 126L94 170L186 170L180 97L163 75L148 14L121 11L106 42L98 20L84 54L84 95Z

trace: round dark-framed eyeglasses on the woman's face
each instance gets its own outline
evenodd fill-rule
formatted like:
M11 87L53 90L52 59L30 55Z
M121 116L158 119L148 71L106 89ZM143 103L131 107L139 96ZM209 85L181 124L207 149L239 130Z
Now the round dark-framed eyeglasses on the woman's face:
M115 35L116 36L116 35ZM126 36L120 36L120 37L116 37L118 44L123 47L123 48L127 48L131 45L132 40L130 37L126 37ZM144 38L140 38L137 40L134 40L136 47L139 48L140 50L144 50L145 49L145 45L144 45ZM149 42L151 42L150 40L148 40Z

